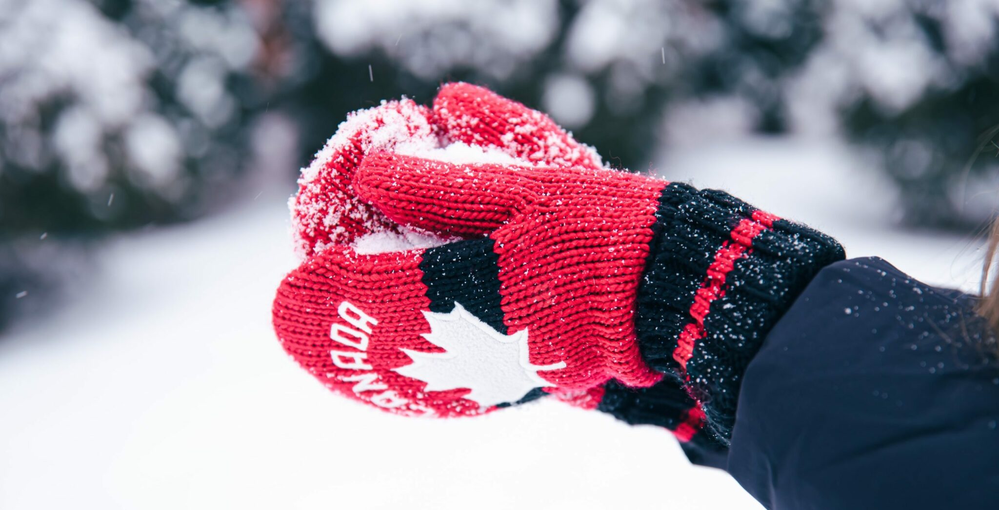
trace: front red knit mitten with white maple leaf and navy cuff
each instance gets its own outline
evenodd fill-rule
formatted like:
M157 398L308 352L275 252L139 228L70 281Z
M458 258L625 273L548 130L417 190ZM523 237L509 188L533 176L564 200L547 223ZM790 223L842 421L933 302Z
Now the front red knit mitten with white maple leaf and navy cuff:
M600 169L380 153L354 189L399 224L478 238L331 249L279 290L286 348L329 384L355 383L356 396L400 412L478 414L538 387L647 387L670 373L724 438L763 333L843 255L721 192Z

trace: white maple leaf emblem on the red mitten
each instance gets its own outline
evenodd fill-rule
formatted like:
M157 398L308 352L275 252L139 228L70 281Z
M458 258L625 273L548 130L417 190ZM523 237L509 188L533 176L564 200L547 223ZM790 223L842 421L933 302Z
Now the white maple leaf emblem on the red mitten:
M424 311L424 316L431 325L424 338L447 352L401 349L413 363L395 371L426 382L427 391L469 388L464 398L490 407L515 402L538 386L551 386L537 372L565 367L564 361L530 364L526 329L502 334L457 301L450 313Z

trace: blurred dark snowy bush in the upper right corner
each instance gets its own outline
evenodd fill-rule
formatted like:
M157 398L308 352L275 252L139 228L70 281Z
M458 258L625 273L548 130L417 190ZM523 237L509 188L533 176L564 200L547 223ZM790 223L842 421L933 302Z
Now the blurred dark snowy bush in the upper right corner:
M999 213L999 1L855 3L828 22L810 86L882 159L907 223L980 228Z

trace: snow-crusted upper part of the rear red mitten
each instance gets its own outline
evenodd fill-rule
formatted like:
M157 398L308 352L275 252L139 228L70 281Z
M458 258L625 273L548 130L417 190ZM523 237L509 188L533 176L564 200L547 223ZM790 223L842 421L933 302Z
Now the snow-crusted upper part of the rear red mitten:
M600 158L544 114L482 87L441 87L433 110L413 100L386 101L351 113L309 167L292 198L293 232L303 258L330 245L396 241L397 248L439 245L432 233L401 228L357 198L351 181L376 151L450 161L600 168ZM366 239L367 238L367 239Z

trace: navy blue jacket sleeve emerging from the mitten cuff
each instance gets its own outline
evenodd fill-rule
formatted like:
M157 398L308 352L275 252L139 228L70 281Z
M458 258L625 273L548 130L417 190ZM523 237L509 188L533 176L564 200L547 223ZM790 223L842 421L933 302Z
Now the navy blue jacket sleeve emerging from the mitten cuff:
M973 298L824 268L742 381L728 472L769 509L999 509L999 365Z

